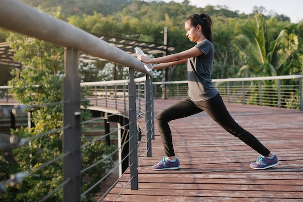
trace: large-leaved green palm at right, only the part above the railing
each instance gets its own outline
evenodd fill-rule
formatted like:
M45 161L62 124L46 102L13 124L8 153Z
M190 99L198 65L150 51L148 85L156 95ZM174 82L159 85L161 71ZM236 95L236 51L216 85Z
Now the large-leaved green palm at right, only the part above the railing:
M238 39L245 44L238 47L244 63L239 75L276 76L279 68L298 49L298 36L283 29L274 37L267 31L263 15L256 15L255 21L241 28Z

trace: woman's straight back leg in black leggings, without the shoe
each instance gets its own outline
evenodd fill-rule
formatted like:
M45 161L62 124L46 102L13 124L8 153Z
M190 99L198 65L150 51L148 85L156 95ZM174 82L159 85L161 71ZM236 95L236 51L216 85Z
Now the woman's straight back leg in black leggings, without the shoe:
M209 116L227 132L242 140L259 154L263 156L270 154L270 151L263 144L261 144L261 142L255 136L244 130L234 121L227 111L220 94L208 101L198 102L196 104L200 109L208 113Z

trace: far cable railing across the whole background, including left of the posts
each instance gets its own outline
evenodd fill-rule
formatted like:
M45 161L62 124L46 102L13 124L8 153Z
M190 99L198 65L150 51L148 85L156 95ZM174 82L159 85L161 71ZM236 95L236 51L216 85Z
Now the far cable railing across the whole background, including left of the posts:
M242 103L259 106L270 106L277 108L303 110L303 75L275 76L275 77L254 77L254 78L223 78L213 79L212 82L219 90L223 100L228 103ZM137 80L139 82L139 80ZM181 99L187 96L188 85L184 81L153 82L154 99L161 98L162 86L167 86L166 97L168 99ZM270 84L269 84L270 83ZM285 84L286 83L286 84ZM104 96L105 107L108 107L107 100L121 100L125 95L126 80L85 82L82 86L93 86L89 92L95 97L95 106L98 105L97 98ZM143 87L144 85L141 85ZM10 102L11 94L8 93L10 86L0 86L0 99ZM138 83L138 91L140 83ZM140 99L139 99L140 100ZM120 102L121 104L121 102ZM123 108L126 109L124 99ZM139 109L140 110L140 109Z

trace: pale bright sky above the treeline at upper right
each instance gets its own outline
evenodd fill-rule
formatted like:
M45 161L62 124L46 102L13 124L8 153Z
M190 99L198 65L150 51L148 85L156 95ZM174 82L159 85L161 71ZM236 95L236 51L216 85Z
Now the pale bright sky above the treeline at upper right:
M170 2L172 0L162 0ZM182 3L183 0L173 0ZM303 0L189 0L191 5L204 8L207 5L227 6L228 10L239 11L239 14L251 14L254 6L263 6L267 11L285 15L290 22L303 20ZM266 14L265 14L266 15Z

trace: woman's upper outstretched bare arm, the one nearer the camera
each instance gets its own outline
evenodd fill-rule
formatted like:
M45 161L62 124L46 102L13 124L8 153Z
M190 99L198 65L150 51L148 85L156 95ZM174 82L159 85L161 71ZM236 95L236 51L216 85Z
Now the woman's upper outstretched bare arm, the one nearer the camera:
M190 48L188 50L184 50L180 53L175 53L175 54L162 56L162 57L158 57L158 58L148 58L145 55L139 55L137 58L141 62L144 62L144 63L167 63L167 62L183 61L184 59L196 57L196 56L199 56L202 54L204 54L204 53L201 52L197 47L192 47L192 48ZM181 62L181 63L183 63L183 62ZM175 63L173 63L173 64L175 64ZM163 68L165 68L165 67L163 67Z

